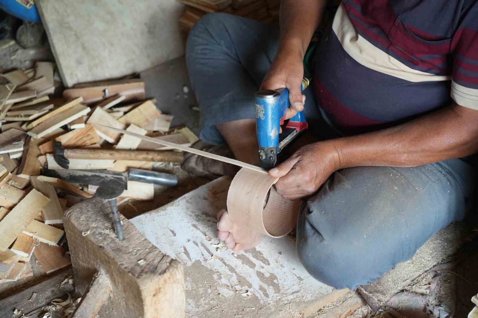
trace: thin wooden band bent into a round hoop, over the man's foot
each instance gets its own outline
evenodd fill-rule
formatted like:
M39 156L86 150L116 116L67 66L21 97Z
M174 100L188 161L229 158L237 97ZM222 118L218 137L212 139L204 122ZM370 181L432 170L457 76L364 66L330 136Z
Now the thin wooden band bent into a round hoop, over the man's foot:
M277 180L253 170L239 170L228 191L228 213L232 221L271 237L289 233L297 222L301 202L282 198L272 188Z

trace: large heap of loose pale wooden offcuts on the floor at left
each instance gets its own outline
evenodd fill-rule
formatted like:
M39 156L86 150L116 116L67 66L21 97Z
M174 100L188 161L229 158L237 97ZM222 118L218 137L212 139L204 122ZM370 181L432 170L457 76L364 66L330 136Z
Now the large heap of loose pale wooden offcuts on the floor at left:
M33 254L45 274L71 264L62 243L66 209L93 196L96 186L70 184L42 175L63 169L54 159L54 141L64 148L167 150L100 125L190 146L198 139L187 127L171 128L172 116L146 99L141 79L75 85L51 98L53 63L1 74L0 85L0 284L33 276ZM61 84L61 83L60 83ZM175 152L175 154L177 154ZM151 170L154 162L70 159L69 169ZM135 181L118 198L152 200L150 183Z

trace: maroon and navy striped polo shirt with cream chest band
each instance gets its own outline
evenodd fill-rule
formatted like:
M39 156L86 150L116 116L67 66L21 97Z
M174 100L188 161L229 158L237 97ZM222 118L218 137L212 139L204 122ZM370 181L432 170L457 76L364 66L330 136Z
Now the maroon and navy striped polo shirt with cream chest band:
M478 0L343 0L321 38L314 86L346 134L454 101L478 110Z

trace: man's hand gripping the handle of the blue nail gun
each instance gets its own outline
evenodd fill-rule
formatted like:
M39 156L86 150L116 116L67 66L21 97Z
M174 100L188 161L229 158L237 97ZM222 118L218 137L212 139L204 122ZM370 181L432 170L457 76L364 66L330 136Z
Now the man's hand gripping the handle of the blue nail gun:
M287 109L285 119L294 117L297 112L304 110L305 96L300 89L304 77L302 59L303 53L299 45L282 45L262 81L261 89L277 90L286 87L289 90L291 107Z

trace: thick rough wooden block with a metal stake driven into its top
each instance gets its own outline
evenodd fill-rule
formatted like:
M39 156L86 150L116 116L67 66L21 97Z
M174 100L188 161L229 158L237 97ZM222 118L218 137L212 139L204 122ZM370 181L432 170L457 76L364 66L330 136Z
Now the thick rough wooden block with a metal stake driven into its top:
M111 294L101 317L185 317L183 266L153 246L130 221L121 221L125 240L120 242L105 201L92 198L65 213L76 291L84 293L103 268Z

